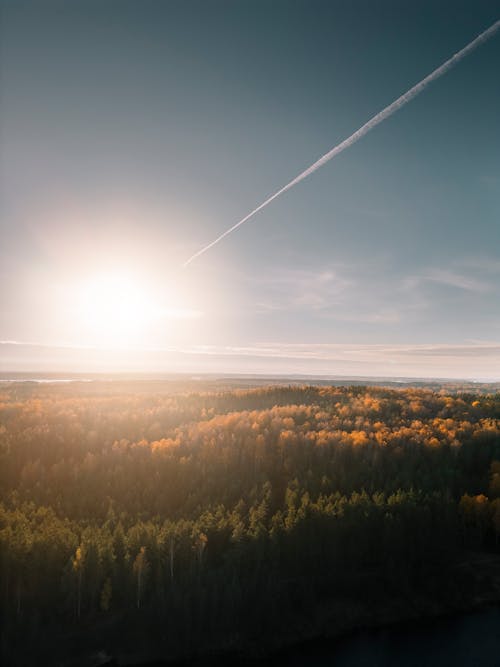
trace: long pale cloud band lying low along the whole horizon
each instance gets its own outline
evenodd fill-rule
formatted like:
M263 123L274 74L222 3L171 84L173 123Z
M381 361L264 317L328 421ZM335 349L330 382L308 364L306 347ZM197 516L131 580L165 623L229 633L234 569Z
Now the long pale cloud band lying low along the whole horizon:
M23 347L22 355L9 357ZM362 377L441 377L500 381L500 342L455 345L263 342L158 348L88 348L0 341L4 368L90 371L311 374ZM31 348L31 349L29 349ZM50 354L46 356L46 350ZM13 361L12 361L13 360Z

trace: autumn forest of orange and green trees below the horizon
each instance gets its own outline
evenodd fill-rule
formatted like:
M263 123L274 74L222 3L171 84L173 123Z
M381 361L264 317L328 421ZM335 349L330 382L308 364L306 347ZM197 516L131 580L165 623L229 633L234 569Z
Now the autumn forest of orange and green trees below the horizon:
M477 596L500 394L4 383L0 499L3 664L272 649Z

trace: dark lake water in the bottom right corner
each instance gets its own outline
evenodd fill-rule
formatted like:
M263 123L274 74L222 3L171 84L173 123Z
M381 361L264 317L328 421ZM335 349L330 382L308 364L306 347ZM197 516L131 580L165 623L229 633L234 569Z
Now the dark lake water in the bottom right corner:
M500 667L500 607L309 645L279 667Z

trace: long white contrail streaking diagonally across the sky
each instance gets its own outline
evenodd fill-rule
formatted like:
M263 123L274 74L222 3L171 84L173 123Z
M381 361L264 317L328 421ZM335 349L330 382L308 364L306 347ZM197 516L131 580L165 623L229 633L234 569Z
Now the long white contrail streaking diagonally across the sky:
M320 167L322 167L324 164L329 162L332 158L334 158L336 155L339 153L342 153L346 148L349 148L349 146L352 146L356 141L359 141L361 137L364 137L365 134L368 134L370 130L372 130L376 125L381 123L383 120L388 118L389 116L392 116L393 113L395 113L398 109L403 107L405 104L408 104L414 97L416 97L419 93L421 93L430 83L435 81L436 79L439 79L440 76L443 76L443 74L446 74L448 70L450 70L452 67L454 67L457 63L459 63L465 56L467 56L469 53L471 53L477 46L482 44L483 42L486 42L490 37L492 37L495 32L500 28L500 20L495 21L493 25L491 25L489 28L487 28L484 32L482 32L480 35L478 35L475 39L472 40L472 42L469 42L467 46L464 46L463 49L455 53L451 58L446 60L442 65L440 65L437 69L435 69L433 72L428 74L425 79L422 79L419 83L417 83L415 86L410 88L410 90L407 90L406 93L401 95L401 97L398 97L394 102L389 104L389 106L385 107L385 109L382 109L382 111L379 111L378 114L373 116L373 118L370 118L369 121L367 121L364 125L362 125L356 132L353 132L350 137L347 137L347 139L344 139L344 141L341 141L340 144L337 144L334 148L328 151L328 153L325 153L323 157L320 157L319 160L317 160L314 164L312 164L310 167L308 167L305 171L300 173L298 176L296 176L292 181L284 185L282 188L280 188L277 192L275 192L273 195L268 197L265 201L262 202L257 208L254 208L253 211L251 211L248 215L246 215L244 218L242 218L239 222L237 222L235 225L230 227L229 229L226 229L225 232L223 232L220 236L218 236L216 239L211 241L208 245L204 246L200 250L194 253L194 255L191 255L191 257L184 262L182 265L183 267L186 267L188 264L191 264L191 262L199 257L200 255L203 255L207 250L210 250L216 243L219 243L219 241L222 241L222 239L227 236L228 234L231 234L231 232L234 232L235 229L238 229L241 225L243 225L247 220L250 220L256 213L261 211L263 208L265 208L268 204L270 204L274 199L285 193L287 190L290 190L290 188L293 188L294 185L297 185L297 183L300 183L300 181L303 181L304 178L307 178L310 176L312 173L317 171Z

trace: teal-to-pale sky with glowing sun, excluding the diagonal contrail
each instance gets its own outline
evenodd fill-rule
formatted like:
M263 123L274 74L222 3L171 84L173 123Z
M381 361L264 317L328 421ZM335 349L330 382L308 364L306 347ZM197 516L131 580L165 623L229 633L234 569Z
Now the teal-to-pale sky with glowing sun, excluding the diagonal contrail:
M0 370L500 379L492 0L0 0Z

